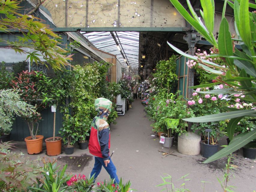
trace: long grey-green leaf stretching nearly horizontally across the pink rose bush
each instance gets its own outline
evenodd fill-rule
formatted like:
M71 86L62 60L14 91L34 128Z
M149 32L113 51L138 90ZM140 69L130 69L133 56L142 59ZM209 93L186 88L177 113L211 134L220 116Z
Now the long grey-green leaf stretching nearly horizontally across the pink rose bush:
M218 114L212 114L212 115L206 115L206 116L200 116L200 117L185 118L182 120L188 121L188 122L194 122L194 123L214 122L214 121L221 121L225 119L233 119L233 118L242 117L242 116L249 116L255 113L256 113L256 110L230 111L230 112L218 113Z

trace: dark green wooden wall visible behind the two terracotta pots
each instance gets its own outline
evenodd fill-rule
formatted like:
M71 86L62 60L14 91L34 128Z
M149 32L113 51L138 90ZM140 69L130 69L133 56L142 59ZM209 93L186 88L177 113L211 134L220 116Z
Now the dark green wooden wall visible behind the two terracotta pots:
M43 135L44 140L48 137L53 137L53 112L48 108L41 112L42 120L39 122L38 135ZM59 129L62 127L62 113L57 110L56 112L56 134L59 135ZM11 131L11 140L24 141L25 137L30 136L29 127L27 123L17 117L13 124Z

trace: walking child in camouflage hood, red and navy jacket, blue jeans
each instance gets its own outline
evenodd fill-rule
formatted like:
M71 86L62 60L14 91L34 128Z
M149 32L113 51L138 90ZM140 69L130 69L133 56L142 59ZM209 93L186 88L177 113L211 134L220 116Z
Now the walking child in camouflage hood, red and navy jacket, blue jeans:
M94 181L101 172L102 166L105 168L111 179L115 179L115 183L119 184L116 175L116 167L109 156L110 148L110 131L107 118L111 113L112 102L105 98L98 98L94 103L95 116L91 124L91 134L89 140L89 152L95 156L95 164L91 172L94 175Z

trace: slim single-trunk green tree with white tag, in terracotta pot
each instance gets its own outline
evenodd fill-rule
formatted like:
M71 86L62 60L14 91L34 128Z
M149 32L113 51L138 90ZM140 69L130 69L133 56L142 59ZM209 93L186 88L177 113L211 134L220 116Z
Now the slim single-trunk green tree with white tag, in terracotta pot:
M72 78L72 71L62 69L62 71L56 72L56 77L49 82L51 84L49 95L51 97L50 105L53 106L53 137L45 140L47 155L49 156L59 155L61 153L62 138L55 136L56 110L59 110L60 104L65 105L66 100L71 96Z

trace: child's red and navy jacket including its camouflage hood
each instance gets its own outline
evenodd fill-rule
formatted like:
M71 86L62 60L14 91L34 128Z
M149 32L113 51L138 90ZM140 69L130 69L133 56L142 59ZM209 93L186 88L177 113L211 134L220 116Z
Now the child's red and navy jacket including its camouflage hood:
M112 102L105 98L98 98L95 100L94 105L98 115L93 118L91 124L89 152L96 157L103 158L103 160L108 160L110 128L107 123L107 118L111 113Z

